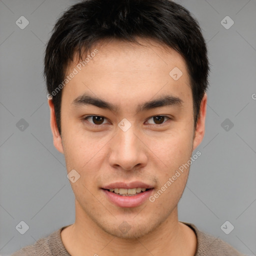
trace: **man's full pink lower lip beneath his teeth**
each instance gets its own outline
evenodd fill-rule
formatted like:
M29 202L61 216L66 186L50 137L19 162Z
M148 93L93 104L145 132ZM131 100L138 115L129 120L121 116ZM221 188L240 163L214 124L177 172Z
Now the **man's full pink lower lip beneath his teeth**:
M153 189L148 189L132 196L119 195L114 192L110 192L106 189L102 189L108 199L119 207L136 207L141 205L144 201L148 199Z

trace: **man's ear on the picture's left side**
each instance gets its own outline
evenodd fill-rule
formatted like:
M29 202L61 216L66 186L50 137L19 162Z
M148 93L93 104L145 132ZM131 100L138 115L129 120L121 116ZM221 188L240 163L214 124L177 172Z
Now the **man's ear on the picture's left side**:
M62 138L57 128L54 105L51 99L48 99L48 104L50 107L50 128L53 135L53 144L60 153L64 153L62 146Z

